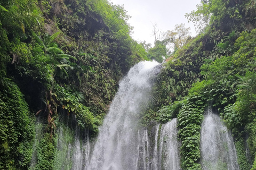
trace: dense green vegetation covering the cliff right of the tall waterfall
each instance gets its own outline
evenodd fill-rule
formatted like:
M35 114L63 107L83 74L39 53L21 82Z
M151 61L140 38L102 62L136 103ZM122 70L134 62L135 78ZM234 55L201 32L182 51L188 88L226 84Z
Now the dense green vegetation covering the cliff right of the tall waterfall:
M154 119L164 123L178 118L182 169L201 169L199 132L209 107L232 131L240 168L256 167L255 5L202 1L197 11L187 14L195 25L201 24L199 35L169 58L156 79L153 109L159 116ZM246 142L251 157L245 153Z

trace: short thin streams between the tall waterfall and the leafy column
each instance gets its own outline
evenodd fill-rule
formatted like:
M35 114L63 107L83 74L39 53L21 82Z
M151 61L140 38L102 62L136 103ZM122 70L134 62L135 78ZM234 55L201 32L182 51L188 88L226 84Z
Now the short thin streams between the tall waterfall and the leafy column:
M172 121L163 124L160 134L159 130L159 124L155 125L151 129L151 140L148 137L147 129L139 130L137 168L135 169L180 169L180 144L177 140L177 118L174 118Z

